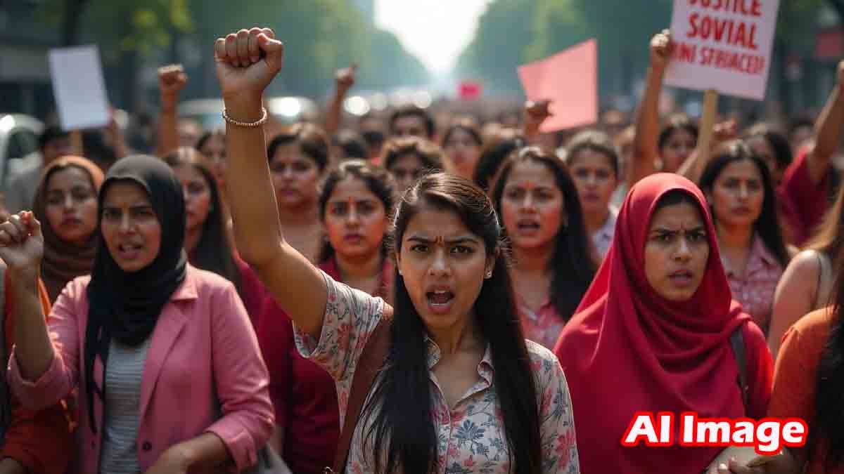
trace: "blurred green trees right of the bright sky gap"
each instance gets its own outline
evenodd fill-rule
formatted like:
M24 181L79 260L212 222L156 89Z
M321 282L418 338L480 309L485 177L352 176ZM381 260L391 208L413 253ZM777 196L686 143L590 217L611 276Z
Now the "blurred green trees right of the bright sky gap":
M480 17L477 34L458 62L458 73L521 90L516 68L583 40L598 40L598 78L603 98L635 94L647 69L652 35L671 22L672 0L495 0ZM822 3L844 0L781 0L775 53L808 55ZM786 51L787 50L787 51Z

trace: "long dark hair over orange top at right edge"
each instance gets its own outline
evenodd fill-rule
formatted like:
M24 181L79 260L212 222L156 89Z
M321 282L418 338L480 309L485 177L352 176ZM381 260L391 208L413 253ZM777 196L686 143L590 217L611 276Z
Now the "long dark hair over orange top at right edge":
M808 461L816 455L823 455L826 471L841 466L844 461L844 272L841 272L840 258L836 259L836 288L834 303L830 310L833 318L830 336L826 340L818 363L818 376L815 380L814 418L809 429L806 450ZM825 447L821 453L820 446Z

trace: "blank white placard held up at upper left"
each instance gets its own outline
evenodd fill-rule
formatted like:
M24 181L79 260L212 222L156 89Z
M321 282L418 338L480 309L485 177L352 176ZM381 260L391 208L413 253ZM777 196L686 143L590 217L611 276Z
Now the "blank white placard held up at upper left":
M108 125L106 83L97 46L50 50L50 75L62 128L71 131Z

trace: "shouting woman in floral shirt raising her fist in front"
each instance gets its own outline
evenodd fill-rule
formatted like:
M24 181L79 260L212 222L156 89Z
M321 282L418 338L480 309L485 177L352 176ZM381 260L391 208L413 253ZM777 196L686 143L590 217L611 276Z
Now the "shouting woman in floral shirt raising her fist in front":
M405 193L392 232L394 307L284 239L261 100L283 49L268 29L217 40L227 181L241 256L293 320L300 353L334 379L343 430L333 469L579 472L565 376L522 337L498 218L479 187L436 174Z

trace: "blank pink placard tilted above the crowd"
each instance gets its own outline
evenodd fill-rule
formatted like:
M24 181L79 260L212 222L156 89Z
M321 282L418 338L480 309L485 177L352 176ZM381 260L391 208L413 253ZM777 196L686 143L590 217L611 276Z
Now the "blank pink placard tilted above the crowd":
M550 100L553 116L540 132L556 132L598 121L598 42L587 40L518 67L527 100Z

